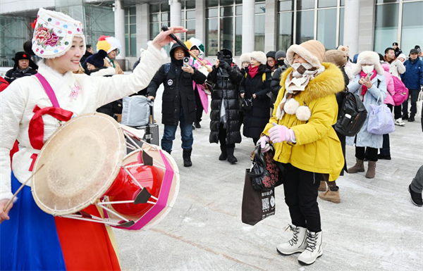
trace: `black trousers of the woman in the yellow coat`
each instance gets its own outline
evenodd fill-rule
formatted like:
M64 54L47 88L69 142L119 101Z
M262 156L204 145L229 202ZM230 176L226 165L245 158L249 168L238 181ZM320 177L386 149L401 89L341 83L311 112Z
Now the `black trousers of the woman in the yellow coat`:
M317 196L321 174L282 164L283 191L293 225L306 227L310 232L321 232Z

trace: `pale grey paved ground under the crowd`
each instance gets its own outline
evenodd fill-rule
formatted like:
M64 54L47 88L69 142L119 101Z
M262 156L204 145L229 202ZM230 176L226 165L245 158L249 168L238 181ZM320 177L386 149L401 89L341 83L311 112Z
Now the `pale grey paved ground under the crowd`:
M160 97L155 111L161 122L159 103ZM391 134L392 160L377 163L374 179L346 174L338 181L340 204L319 199L326 246L307 267L298 263L299 254L276 252L277 244L290 239L283 232L290 222L283 187L276 189L276 215L255 227L240 220L252 139L237 144L237 165L219 161L219 146L209 144L209 115L204 115L202 128L194 131L192 168L184 168L177 134L176 205L154 229L114 230L123 270L423 270L423 208L412 205L407 191L423 161L419 119ZM347 161L349 166L355 161L353 147Z

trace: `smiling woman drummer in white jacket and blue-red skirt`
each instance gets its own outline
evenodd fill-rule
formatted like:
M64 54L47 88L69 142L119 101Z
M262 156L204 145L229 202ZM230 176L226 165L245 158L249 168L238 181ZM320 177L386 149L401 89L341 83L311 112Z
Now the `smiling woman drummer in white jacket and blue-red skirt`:
M80 22L63 13L39 9L32 50L42 59L39 75L54 91L59 108L42 87L42 78L23 77L0 94L0 270L120 270L114 238L99 223L54 218L35 204L27 185L4 210L13 193L32 174L37 153L61 121L144 89L159 69L160 49L168 34L186 32L171 27L161 32L142 54L131 75L76 75L85 52ZM30 123L41 123L32 129ZM14 141L23 148L9 157Z

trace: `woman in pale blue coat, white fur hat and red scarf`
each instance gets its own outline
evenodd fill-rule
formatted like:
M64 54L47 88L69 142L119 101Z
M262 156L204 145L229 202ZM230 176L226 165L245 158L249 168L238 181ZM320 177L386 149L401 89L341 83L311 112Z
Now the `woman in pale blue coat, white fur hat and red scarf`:
M370 105L381 105L386 98L386 81L384 68L379 62L379 55L374 51L364 51L358 55L357 64L353 67L354 79L348 84L348 90L360 96L367 110L367 119L355 137L348 137L347 144L355 144L357 163L348 168L348 173L364 172L364 158L367 148L369 167L366 177L376 175L378 149L382 147L383 136L367 132L367 123L371 112ZM369 80L367 80L369 79Z

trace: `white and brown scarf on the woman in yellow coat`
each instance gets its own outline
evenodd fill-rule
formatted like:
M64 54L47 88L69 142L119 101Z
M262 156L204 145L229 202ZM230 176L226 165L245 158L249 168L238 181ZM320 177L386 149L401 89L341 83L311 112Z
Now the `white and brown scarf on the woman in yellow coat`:
M286 77L285 81L286 94L283 96L283 99L281 103L279 103L276 111L276 118L278 120L281 120L285 114L285 111L283 111L285 103L289 99L293 98L295 94L304 91L310 80L324 72L323 65L320 68L316 68L309 63L295 63L292 67L293 70L290 72L288 77Z

